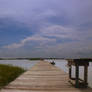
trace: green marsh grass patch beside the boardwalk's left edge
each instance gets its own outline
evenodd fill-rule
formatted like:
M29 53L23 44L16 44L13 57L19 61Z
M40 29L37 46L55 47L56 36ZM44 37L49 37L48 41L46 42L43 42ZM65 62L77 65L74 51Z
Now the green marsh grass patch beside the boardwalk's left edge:
M25 72L20 67L0 64L0 89Z

